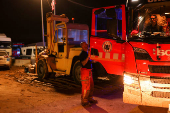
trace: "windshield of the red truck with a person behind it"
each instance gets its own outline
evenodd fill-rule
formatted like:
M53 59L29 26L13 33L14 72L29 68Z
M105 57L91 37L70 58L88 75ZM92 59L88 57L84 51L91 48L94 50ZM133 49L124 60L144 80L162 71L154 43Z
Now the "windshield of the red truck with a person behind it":
M150 3L130 9L128 38L170 37L170 2Z

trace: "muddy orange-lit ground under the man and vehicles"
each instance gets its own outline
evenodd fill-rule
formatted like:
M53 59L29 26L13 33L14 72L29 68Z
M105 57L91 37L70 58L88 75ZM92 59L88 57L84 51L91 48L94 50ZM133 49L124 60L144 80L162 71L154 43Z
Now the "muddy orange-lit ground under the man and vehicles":
M71 77L39 81L24 67L0 69L0 113L166 113L167 109L123 103L122 78L95 80L94 98L98 104L80 104L81 85Z

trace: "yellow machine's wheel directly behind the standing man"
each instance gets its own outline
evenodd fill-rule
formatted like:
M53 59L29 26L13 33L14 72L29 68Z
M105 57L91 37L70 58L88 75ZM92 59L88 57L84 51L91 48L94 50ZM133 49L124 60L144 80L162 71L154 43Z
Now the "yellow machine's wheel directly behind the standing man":
M74 66L73 66L73 71L72 71L72 76L74 78L74 81L77 83L77 84L81 84L81 75L80 75L80 69L81 69L81 63L80 61L78 60Z

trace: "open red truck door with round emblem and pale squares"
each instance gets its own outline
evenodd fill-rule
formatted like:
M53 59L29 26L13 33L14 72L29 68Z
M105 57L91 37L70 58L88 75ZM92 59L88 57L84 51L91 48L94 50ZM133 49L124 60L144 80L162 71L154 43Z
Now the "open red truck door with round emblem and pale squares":
M126 40L125 6L93 9L91 59L97 60L109 74L124 71Z

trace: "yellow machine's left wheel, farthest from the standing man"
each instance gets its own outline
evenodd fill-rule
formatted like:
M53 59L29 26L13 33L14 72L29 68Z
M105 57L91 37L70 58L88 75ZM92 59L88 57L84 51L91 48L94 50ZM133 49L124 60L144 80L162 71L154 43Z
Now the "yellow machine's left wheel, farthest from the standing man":
M38 74L38 78L44 79L47 78L48 76L48 69L47 69L47 64L45 62L45 60L39 60L37 63L37 74Z

